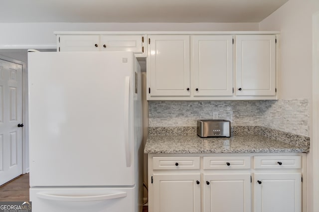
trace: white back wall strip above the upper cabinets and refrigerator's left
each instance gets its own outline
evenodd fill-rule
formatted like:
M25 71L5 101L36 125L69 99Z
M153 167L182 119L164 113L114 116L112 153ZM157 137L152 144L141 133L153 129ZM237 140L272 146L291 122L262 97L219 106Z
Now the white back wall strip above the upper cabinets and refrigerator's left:
M53 31L255 31L258 23L0 23L0 49L55 48Z

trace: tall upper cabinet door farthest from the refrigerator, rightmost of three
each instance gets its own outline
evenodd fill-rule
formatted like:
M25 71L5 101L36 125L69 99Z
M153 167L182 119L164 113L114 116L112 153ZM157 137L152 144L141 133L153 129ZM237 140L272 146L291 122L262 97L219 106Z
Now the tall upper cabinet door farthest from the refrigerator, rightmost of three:
M236 36L236 96L275 96L276 36Z

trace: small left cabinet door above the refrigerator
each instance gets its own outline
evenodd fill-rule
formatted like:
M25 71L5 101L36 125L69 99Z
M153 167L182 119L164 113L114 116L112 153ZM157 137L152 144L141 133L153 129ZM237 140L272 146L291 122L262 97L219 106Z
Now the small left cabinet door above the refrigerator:
M100 35L60 35L60 51L100 51Z

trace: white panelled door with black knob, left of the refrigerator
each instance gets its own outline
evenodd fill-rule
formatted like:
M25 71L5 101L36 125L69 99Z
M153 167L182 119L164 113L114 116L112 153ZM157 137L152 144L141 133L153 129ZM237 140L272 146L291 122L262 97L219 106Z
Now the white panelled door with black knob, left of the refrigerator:
M22 66L0 60L0 185L22 174Z

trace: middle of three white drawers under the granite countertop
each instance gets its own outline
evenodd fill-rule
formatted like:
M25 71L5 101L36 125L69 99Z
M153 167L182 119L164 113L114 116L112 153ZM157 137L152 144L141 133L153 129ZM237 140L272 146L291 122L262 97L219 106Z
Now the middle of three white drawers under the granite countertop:
M204 169L250 169L250 157L204 157Z

